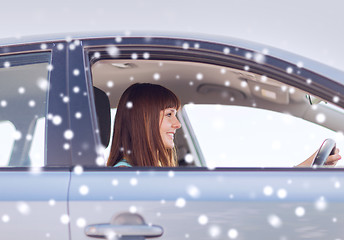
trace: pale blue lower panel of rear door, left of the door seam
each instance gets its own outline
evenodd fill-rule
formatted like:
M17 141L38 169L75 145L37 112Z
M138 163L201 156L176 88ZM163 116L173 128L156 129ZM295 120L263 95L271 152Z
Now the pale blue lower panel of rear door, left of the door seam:
M0 171L0 236L6 239L68 239L70 172Z

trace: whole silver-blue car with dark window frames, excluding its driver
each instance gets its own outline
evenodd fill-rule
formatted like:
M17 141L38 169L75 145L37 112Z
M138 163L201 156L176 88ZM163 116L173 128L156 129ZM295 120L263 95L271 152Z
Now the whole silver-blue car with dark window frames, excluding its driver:
M0 42L1 239L343 239L344 72L268 46L133 33ZM105 167L135 82L179 96L179 167Z

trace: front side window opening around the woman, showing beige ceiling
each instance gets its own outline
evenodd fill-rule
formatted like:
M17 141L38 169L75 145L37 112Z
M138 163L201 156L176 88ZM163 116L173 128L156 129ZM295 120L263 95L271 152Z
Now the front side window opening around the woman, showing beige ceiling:
M327 138L339 149L344 145L343 109L292 82L188 61L97 59L90 69L111 108L136 82L160 84L180 98L182 127L174 136L179 166L293 167Z

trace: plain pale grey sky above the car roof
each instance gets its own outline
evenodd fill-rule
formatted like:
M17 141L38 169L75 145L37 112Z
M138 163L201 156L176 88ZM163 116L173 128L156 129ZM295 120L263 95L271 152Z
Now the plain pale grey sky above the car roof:
M281 48L344 71L342 0L7 0L0 38L95 31L229 36Z

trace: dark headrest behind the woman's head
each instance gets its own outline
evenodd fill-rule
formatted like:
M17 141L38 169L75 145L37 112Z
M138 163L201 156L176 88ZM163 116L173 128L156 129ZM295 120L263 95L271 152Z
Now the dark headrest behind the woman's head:
M99 88L93 87L93 91L100 140L106 148L109 145L111 133L110 101L106 93L100 90Z

